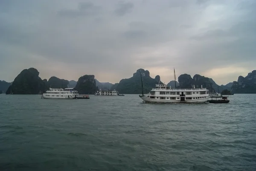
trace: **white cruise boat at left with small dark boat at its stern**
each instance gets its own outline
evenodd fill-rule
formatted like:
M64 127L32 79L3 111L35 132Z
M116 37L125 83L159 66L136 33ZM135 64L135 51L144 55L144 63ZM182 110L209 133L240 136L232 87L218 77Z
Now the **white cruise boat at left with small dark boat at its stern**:
M43 93L43 99L76 99L79 93L75 88L50 88Z

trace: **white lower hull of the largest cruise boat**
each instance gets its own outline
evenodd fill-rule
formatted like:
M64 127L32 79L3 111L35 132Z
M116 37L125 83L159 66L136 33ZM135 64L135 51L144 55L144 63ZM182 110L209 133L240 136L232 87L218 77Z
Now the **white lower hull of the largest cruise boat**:
M208 101L208 98L192 100L185 99L185 101L180 101L180 99L150 99L148 96L140 96L140 98L143 99L143 101L145 101L146 103L205 103Z

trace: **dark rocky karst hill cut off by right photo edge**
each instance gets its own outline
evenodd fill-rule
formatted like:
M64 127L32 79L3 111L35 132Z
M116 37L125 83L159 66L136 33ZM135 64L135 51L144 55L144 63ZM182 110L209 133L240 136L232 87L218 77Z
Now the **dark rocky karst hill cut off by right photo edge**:
M231 90L233 93L256 93L256 70L246 77L239 76L237 81L233 81Z

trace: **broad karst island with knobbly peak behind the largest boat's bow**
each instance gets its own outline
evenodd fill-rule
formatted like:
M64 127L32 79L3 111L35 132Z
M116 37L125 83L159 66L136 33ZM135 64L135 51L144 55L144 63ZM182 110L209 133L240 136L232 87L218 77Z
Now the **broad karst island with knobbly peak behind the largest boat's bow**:
M111 90L115 89L122 94L141 94L142 87L140 72L143 78L143 93L148 93L152 88L155 87L155 84L159 84L159 75L157 75L155 78L151 78L148 70L139 69L133 74L131 78L122 79L118 84L114 84L111 87ZM160 84L163 83L160 81Z

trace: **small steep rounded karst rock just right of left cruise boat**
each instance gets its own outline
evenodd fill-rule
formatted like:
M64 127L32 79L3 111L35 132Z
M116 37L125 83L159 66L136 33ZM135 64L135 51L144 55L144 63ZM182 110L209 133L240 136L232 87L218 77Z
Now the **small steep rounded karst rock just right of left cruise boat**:
M76 84L76 90L79 94L94 94L98 90L94 75L81 76Z

